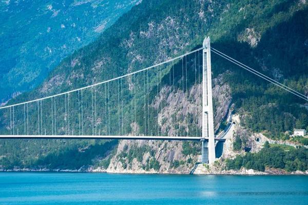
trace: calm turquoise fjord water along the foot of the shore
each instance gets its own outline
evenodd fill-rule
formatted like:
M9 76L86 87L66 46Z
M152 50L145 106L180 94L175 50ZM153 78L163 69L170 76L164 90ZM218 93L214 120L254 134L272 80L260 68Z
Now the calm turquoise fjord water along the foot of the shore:
M0 173L0 204L308 204L308 176Z

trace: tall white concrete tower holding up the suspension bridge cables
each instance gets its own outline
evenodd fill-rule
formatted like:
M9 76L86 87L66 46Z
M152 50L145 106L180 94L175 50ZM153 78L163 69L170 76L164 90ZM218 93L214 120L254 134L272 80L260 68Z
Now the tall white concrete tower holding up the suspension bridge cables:
M214 163L215 139L213 120L213 97L211 87L210 39L203 40L203 87L202 87L202 163ZM205 141L208 138L208 141Z

